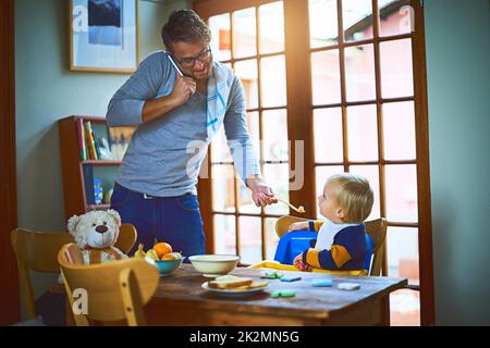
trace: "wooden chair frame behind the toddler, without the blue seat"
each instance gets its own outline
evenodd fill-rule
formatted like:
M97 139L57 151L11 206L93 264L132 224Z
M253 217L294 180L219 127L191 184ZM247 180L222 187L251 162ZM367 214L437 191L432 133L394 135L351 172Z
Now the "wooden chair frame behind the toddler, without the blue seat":
M275 233L279 238L282 237L291 226L292 223L308 221L308 219L296 216L282 216L275 222ZM366 233L371 237L373 243L372 261L369 270L369 275L382 275L383 256L384 256L384 239L387 237L388 223L385 219L377 219L366 221Z

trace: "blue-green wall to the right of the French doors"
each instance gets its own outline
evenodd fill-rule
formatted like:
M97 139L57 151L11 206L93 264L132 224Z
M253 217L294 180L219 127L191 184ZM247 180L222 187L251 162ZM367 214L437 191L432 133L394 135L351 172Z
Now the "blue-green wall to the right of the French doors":
M489 1L425 8L436 321L489 325Z

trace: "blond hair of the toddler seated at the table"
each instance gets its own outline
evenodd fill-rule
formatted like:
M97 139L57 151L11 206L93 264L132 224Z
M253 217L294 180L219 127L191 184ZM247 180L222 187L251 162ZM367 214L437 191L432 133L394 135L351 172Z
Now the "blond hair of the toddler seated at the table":
M329 186L345 210L345 222L360 223L369 216L375 195L366 178L351 173L335 174L329 177L324 189Z

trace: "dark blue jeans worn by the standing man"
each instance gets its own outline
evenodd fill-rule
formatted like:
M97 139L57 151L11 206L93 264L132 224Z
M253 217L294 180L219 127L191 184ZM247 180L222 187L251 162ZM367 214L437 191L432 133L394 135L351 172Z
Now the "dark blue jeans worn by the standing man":
M111 209L123 223L133 224L137 239L130 251L133 256L139 244L146 250L157 241L166 241L184 257L205 253L205 235L197 196L148 197L118 183L111 197Z

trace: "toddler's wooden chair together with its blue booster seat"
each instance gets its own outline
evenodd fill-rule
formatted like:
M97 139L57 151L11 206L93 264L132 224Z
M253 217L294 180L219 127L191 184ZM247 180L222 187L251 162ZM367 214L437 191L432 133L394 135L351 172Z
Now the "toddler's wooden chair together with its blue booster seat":
M279 217L275 222L275 233L278 237L281 238L291 238L292 236L297 236L296 240L292 240L294 244L299 245L298 250L304 250L309 247L309 241L316 239L316 232L310 231L295 231L292 232L294 235L284 236L291 224L295 222L304 222L308 221L308 219L296 217L296 216L282 216ZM371 250L372 258L367 260L369 265L369 272L359 270L359 271L327 271L327 270L316 270L314 272L324 272L332 274L350 274L350 275L381 275L382 273L382 264L383 264L383 253L384 253L384 239L387 236L388 223L385 219L377 219L372 221L365 222L366 224L366 234L369 236L367 238L368 241L368 250ZM301 252L301 251L299 251ZM369 262L370 261L370 262ZM368 265L368 264L367 264ZM257 264L252 265L254 269L260 268L271 268L271 269L281 269L287 271L297 271L295 266L292 264L282 264L278 261L262 261Z

